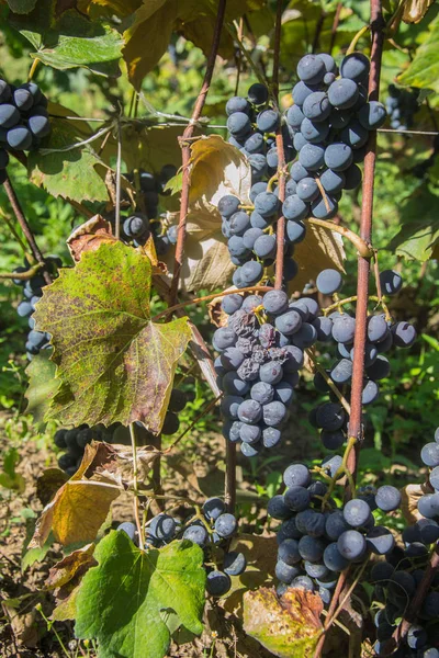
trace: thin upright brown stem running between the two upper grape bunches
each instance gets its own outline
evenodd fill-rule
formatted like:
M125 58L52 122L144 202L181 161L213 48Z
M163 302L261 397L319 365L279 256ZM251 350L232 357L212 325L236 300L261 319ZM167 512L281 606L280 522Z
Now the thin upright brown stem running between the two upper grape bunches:
M272 89L274 103L279 112L279 66L280 66L280 53L281 53L281 33L282 33L282 13L283 2L278 0L275 11L275 24L274 24L274 52L273 52L273 76L272 76ZM279 205L281 206L285 201L285 151L283 146L282 124L279 121L279 126L275 131L275 148L278 151L278 197ZM272 179L271 179L272 180ZM269 181L269 184L271 183ZM285 217L283 214L280 215L275 226L275 277L274 288L280 291L283 285L283 263L285 258L284 243L285 243Z

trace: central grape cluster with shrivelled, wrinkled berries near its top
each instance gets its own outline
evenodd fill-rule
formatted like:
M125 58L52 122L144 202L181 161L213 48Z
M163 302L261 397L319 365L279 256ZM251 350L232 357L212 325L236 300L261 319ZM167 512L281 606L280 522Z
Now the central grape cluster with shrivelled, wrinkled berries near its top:
M304 349L317 338L319 309L311 297L289 303L286 293L275 290L263 297L227 295L222 307L228 324L215 331L213 345L224 390L223 433L250 457L281 440Z

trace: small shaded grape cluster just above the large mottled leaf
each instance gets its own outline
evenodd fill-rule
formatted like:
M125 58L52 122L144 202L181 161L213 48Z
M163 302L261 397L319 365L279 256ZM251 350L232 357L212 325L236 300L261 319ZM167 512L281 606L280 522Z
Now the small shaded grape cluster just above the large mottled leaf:
M168 195L166 184L176 173L177 168L173 164L165 164L158 174L139 170L138 180L134 173L127 174L126 178L133 184L139 185L142 200L138 200L137 206L144 209L136 209L125 217L122 224L122 238L133 242L134 247L145 245L149 236L153 236L157 254L165 256L170 245L176 243L177 226L164 230L159 217L160 196Z

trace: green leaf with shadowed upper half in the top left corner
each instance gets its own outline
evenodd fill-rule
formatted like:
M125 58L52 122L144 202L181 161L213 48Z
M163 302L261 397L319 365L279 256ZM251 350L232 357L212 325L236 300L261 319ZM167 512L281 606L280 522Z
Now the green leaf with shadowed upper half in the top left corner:
M31 13L15 13L11 24L36 48L32 57L56 69L83 67L117 76L123 38L109 24L89 21L76 10L59 14L54 0L38 0Z

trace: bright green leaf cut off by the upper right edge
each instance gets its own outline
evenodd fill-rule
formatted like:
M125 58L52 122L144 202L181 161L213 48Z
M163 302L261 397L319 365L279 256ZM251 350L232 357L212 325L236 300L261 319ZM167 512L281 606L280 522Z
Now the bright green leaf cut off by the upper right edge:
M418 46L415 58L398 77L401 84L432 89L439 92L439 16L429 25L427 39Z

